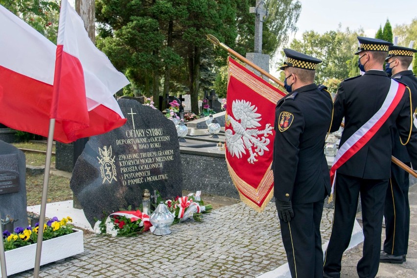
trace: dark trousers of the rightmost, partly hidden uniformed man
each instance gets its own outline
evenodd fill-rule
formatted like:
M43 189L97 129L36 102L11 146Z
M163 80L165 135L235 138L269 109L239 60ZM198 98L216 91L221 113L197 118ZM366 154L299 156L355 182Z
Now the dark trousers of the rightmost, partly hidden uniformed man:
M411 164L406 163L408 166ZM409 174L394 163L385 198L384 251L391 255L405 255L410 232L410 204L408 202Z

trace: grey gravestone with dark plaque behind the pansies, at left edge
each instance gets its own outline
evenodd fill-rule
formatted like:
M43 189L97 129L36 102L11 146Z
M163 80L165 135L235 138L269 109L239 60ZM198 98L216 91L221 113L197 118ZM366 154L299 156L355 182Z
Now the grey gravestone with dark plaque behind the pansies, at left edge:
M14 227L27 227L25 175L24 153L0 140L0 216L17 219Z

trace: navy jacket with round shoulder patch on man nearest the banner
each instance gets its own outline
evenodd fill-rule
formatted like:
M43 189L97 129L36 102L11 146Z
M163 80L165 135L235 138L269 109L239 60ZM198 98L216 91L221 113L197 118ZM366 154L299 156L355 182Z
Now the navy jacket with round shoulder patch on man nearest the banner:
M323 200L330 193L324 140L332 106L330 94L320 91L314 83L278 101L273 155L276 199L307 204ZM287 121L285 125L283 120Z

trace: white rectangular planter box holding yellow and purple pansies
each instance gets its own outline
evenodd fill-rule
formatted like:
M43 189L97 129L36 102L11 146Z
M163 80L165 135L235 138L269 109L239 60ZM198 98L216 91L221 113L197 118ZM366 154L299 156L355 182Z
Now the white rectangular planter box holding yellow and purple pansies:
M41 265L58 261L84 252L83 231L48 239L42 242ZM7 275L35 267L36 244L9 250L6 254Z

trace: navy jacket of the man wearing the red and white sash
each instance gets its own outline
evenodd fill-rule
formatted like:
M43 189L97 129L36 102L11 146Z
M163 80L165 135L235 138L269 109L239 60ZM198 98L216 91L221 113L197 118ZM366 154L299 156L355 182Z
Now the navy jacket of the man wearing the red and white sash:
M340 84L334 102L331 132L339 129L345 116L345 129L340 146L382 106L391 84L391 78L382 70L368 70L363 76L346 79ZM417 129L411 116L410 93L406 88L394 112L376 134L355 155L345 162L338 173L363 179L389 179L393 142L391 129L397 126L413 165L417 165ZM413 163L414 162L414 163Z

